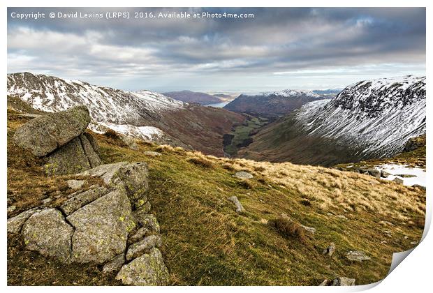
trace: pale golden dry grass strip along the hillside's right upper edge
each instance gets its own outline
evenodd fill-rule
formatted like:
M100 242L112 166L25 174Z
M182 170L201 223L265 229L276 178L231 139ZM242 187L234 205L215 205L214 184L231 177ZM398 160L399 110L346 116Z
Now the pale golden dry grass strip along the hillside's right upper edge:
M373 176L291 163L228 158L215 160L225 169L231 165L231 170L245 170L295 190L310 204L325 211L374 211L399 220L404 220L407 213L425 213L425 194L416 188Z

